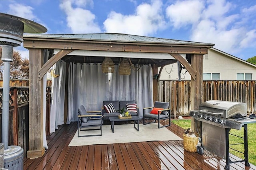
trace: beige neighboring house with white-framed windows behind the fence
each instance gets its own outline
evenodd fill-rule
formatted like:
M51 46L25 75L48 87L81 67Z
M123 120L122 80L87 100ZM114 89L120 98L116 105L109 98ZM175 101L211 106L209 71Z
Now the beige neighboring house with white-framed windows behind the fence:
M182 57L185 58L185 55ZM256 80L256 65L210 48L208 54L203 56L203 74L203 80ZM181 80L191 79L186 69L182 69L180 77ZM178 80L178 64L166 65L160 80Z

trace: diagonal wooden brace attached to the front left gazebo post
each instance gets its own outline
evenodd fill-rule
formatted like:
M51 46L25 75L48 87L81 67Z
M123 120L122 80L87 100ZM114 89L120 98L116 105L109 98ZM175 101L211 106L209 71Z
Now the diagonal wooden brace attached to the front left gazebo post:
M46 72L51 68L51 66L53 66L53 64L55 64L57 61L62 59L62 57L66 56L68 53L71 53L72 51L74 50L70 50L70 49L61 50L52 58L50 58L50 60L48 60L42 66L42 68L40 68L40 70L38 71L38 80L41 80L44 77L44 74L46 74Z

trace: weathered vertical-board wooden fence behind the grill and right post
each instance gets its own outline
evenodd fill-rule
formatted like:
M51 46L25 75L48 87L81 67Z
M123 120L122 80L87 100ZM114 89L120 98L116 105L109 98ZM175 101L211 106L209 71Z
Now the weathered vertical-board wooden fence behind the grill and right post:
M170 102L174 117L188 115L190 106L190 80L160 80L158 84L160 102ZM204 80L203 102L207 100L224 100L243 102L248 113L256 112L255 80Z

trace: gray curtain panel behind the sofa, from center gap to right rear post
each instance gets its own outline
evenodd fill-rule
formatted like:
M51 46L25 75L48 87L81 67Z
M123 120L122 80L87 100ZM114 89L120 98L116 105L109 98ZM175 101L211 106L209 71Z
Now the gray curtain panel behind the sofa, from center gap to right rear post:
M118 66L110 79L110 100L135 100L139 117L143 117L143 108L153 106L151 65L142 65L138 71L132 69L130 76L118 74Z

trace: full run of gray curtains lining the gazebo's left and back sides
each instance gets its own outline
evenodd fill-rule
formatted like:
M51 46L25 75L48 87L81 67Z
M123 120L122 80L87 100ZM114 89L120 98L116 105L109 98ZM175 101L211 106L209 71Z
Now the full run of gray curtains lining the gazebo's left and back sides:
M119 75L116 65L110 82L108 74L102 73L101 64L70 63L66 73L66 63L58 61L54 69L60 76L52 80L50 132L64 124L66 78L68 124L77 121L80 105L84 105L87 111L101 111L103 100L136 100L140 117L144 107L153 106L151 65L143 65L139 71L132 70L130 76Z

